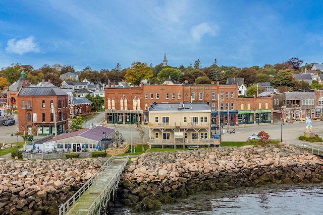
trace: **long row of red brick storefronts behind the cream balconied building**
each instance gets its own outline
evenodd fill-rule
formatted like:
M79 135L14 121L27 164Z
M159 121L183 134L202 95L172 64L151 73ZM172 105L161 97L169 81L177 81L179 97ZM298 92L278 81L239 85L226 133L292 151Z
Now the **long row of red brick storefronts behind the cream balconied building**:
M219 124L231 125L239 122L238 84L220 85L219 83L196 85L196 84L166 84L166 85L141 85L138 88L104 88L105 93L105 120L107 123L135 124L148 122L148 108L153 102L157 103L179 103L208 102L211 108L212 118ZM258 98L244 98L244 101L254 103ZM260 98L261 101L271 100L271 98ZM272 102L263 106L263 113L271 113ZM264 110L265 107L266 110ZM253 107L252 107L253 108ZM258 109L258 108L257 108ZM270 110L267 110L270 109ZM254 110L254 109L253 109ZM242 109L244 111L244 109ZM263 114L262 113L262 114ZM270 118L272 114L269 114ZM229 117L228 117L229 116ZM243 116L241 116L243 117ZM264 117L266 119L268 116ZM260 117L261 118L261 117ZM271 122L272 120L261 120L261 122ZM254 121L252 121L254 123Z

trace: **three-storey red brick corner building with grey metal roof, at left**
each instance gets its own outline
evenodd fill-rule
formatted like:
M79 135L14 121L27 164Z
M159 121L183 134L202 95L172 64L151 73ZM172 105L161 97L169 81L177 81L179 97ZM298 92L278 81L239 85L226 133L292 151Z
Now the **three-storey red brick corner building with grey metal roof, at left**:
M20 133L60 134L68 129L68 94L57 87L22 87L17 110Z

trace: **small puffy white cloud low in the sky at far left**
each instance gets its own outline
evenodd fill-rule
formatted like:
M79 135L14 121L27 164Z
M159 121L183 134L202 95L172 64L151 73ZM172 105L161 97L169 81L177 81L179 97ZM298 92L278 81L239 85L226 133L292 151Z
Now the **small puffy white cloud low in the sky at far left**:
M28 52L39 52L39 47L37 43L34 42L34 37L29 36L21 40L8 40L6 51L23 55Z

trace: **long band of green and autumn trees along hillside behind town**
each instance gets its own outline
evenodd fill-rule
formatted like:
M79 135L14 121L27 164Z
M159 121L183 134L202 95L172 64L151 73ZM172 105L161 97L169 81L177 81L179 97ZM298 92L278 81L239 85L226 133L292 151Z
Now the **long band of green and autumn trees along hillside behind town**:
M226 84L228 78L244 78L244 84L248 87L248 94L254 94L256 90L256 83L270 82L274 88L279 88L281 92L297 91L307 89L321 89L322 86L318 85L316 81L312 82L309 86L306 82L296 81L293 77L294 73L301 73L302 71L310 70L313 64L305 63L297 57L292 57L286 62L277 63L275 65L265 64L260 66L251 66L245 68L237 68L235 66L219 66L217 59L214 60L209 67L201 68L200 60L195 60L194 65L190 64L187 67L181 65L180 67L162 66L149 66L144 62L133 62L131 67L122 68L119 63L116 67L109 69L101 69L100 71L92 70L91 67L86 66L80 71L79 80L86 79L87 81L100 84L104 86L108 80L111 82L127 81L128 83L136 86L139 85L141 80L146 79L151 84L160 84L171 77L172 80L179 83L187 81L189 84L210 84L219 82ZM54 64L52 66L44 64L38 69L34 69L32 65L21 65L19 63L12 64L8 67L2 68L0 71L0 89L5 89L7 86L16 82L20 78L21 71L25 72L25 77L32 84L37 84L43 79L56 86L60 86L63 80L60 75L75 72L73 65L60 65ZM319 73L319 71L318 71ZM76 80L67 80L76 81Z

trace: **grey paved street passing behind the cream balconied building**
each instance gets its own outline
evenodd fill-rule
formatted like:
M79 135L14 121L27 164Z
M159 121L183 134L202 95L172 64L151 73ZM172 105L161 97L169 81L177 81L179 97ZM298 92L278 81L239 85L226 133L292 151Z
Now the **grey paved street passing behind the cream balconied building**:
M15 120L17 122L17 117L15 116ZM85 126L89 127L89 123L93 123L93 126L101 125L104 122L104 112L100 112L95 117L88 119L85 122ZM319 120L312 121L313 128L312 131L315 132L319 136L323 136L323 123ZM140 137L137 127L135 125L111 125L104 124L106 127L110 127L116 130L120 130L123 135L123 139L128 144L142 143L142 138ZM145 129L145 137L144 142L148 141L148 127L143 126ZM224 129L228 129L228 126L224 127ZM303 132L306 130L306 125L304 121L300 122L292 122L285 123L285 125L281 124L281 121L275 120L274 123L260 123L258 124L245 124L238 126L230 126L229 129L236 129L236 133L233 134L224 134L222 135L222 141L244 141L247 140L249 135L253 133L258 133L260 130L266 131L271 139L282 139L283 141L291 142L292 144L301 145L302 141L298 140L298 137L303 135ZM11 133L15 133L17 131L17 124L12 126L3 126L0 125L0 136L1 142L5 143L14 143L17 142L17 136L11 136ZM282 131L282 132L281 132ZM214 134L214 130L212 130ZM219 134L219 130L217 133ZM19 137L19 141L23 139Z

